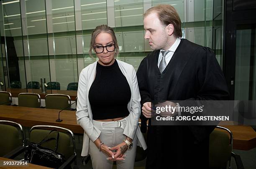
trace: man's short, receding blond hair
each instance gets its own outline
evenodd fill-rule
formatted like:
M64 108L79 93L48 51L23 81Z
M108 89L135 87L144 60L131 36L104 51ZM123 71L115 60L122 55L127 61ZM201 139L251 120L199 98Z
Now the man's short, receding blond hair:
M151 7L144 13L144 17L154 12L158 15L158 19L161 21L162 25L167 26L172 24L174 26L173 34L175 37L182 37L179 14L172 5L157 5Z

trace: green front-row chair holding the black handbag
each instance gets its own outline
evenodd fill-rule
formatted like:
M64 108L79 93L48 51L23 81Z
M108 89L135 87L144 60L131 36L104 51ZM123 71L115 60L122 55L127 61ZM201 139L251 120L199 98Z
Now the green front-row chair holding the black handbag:
M29 140L33 143L39 143L49 134L49 132L51 132L51 130L54 129L56 131L52 132L49 135L49 138L56 138L57 132L59 132L59 141L57 143L58 148L56 149L56 151L63 154L66 158L66 162L64 162L64 164L62 164L59 168L68 167L72 162L74 162L76 165L77 154L75 150L74 134L71 130L57 126L33 126L30 130ZM54 150L56 146L56 141L51 140L49 142L41 144L41 146Z

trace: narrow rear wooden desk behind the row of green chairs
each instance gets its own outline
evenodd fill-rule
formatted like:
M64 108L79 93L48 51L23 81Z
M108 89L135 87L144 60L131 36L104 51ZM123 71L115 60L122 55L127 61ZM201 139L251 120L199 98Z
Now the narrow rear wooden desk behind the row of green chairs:
M18 97L20 93L26 93L27 89L6 89L7 92L12 94L12 97ZM52 93L51 93L52 91ZM28 93L37 93L40 95L41 99L44 99L47 94L67 94L70 96L71 100L76 100L77 91L76 90L46 90L47 93L42 93L41 89L28 89Z

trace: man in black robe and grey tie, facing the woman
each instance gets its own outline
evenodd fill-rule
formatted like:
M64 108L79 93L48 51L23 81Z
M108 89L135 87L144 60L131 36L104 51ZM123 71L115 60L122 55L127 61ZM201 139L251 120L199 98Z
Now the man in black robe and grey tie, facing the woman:
M151 125L151 101L226 100L223 72L210 48L180 39L181 22L171 5L150 8L143 22L145 39L154 50L137 71L142 131L148 120L146 169L207 169L215 126Z

